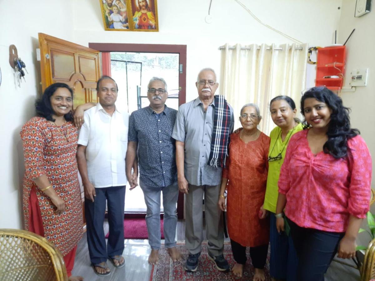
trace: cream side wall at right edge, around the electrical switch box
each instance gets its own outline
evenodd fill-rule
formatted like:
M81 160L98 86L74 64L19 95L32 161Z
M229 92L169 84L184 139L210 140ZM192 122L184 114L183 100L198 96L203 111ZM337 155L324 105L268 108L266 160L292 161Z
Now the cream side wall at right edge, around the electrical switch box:
M372 188L375 187L375 121L373 117L375 105L375 55L374 55L374 26L375 26L375 9L372 3L372 12L359 18L354 17L356 1L343 0L341 18L339 22L339 41L344 44L345 40L353 30L347 46L347 60L345 67L345 86L350 87L350 72L353 69L369 68L369 78L366 87L356 87L356 91L343 92L341 94L345 106L352 109L350 114L351 125L361 131L370 153L372 155ZM371 212L375 212L375 204L371 206ZM363 221L362 227L368 228L366 220ZM369 236L362 233L358 236L358 244L367 245Z

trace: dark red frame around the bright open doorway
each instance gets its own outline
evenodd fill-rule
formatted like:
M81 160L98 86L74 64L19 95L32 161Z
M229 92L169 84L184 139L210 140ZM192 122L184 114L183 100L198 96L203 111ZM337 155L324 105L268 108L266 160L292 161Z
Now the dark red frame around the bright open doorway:
M127 44L127 43L89 43L89 48L100 52L146 52L179 54L178 106L186 102L186 45L170 44ZM177 218L184 218L184 194L177 199Z

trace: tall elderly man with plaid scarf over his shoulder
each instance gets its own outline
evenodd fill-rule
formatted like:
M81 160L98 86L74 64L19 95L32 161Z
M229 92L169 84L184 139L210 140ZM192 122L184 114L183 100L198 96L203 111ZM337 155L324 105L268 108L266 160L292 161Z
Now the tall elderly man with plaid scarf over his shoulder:
M202 69L195 83L198 97L180 106L172 138L176 140L178 188L185 193L185 238L189 257L186 271L196 271L203 240L202 198L208 258L220 271L228 271L223 256L223 221L219 200L222 168L233 132L233 109L221 95L213 69Z

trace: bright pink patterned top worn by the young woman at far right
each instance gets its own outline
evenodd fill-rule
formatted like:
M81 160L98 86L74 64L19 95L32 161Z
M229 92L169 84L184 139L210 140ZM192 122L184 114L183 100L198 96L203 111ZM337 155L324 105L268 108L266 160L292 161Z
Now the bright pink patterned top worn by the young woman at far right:
M308 130L291 139L281 167L279 193L285 215L301 227L345 232L350 215L365 218L371 197L372 162L361 136L348 140L348 157L312 154Z

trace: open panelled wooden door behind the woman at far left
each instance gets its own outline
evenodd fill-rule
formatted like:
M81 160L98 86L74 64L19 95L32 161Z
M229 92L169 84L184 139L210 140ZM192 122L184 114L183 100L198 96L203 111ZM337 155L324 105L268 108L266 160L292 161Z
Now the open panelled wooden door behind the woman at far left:
M43 91L55 82L62 82L74 91L74 108L86 102L97 102L100 52L44 33L38 35Z

